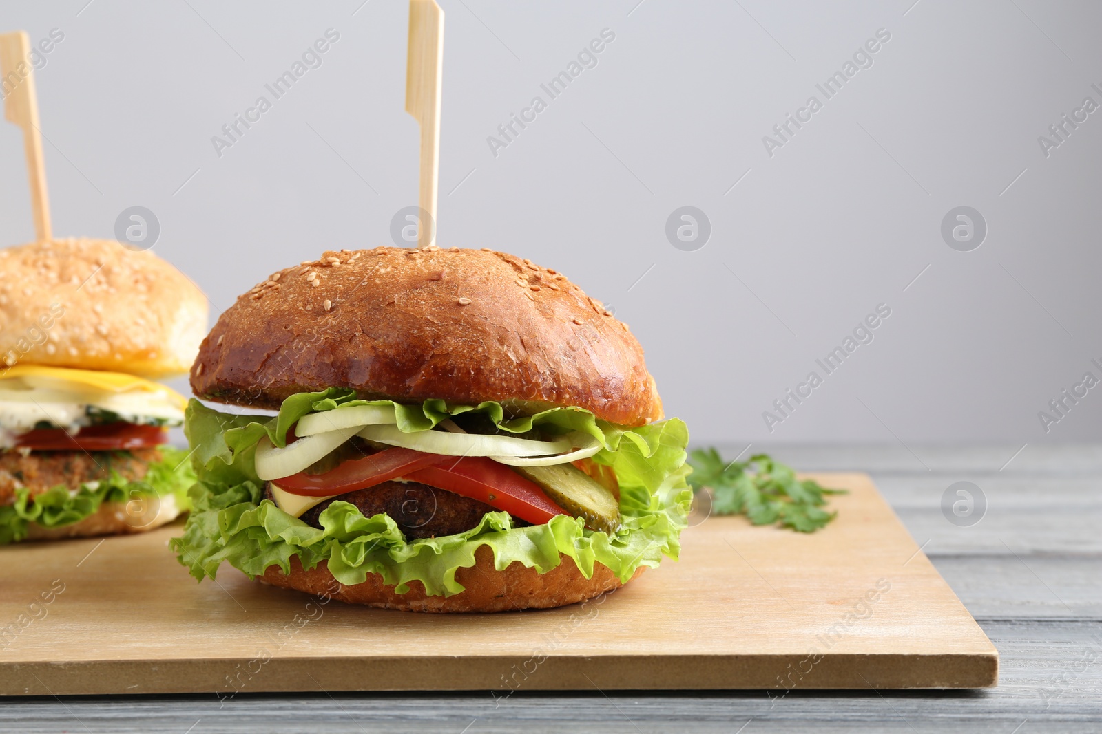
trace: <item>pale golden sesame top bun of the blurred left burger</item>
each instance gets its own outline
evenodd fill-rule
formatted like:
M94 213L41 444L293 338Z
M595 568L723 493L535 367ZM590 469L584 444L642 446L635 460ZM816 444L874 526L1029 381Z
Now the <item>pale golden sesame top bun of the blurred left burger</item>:
M0 368L186 372L207 302L152 252L67 239L0 250Z

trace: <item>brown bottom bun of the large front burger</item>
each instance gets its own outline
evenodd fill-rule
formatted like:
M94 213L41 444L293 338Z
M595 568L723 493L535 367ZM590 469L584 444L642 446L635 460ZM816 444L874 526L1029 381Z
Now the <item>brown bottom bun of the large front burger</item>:
M329 573L325 561L306 571L298 557L291 558L291 572L283 573L271 566L259 580L273 587L294 589L318 596L352 604L366 604L403 612L509 612L526 609L565 606L613 591L622 584L605 566L595 563L593 577L586 579L569 556L547 573L539 573L520 561L514 561L504 571L494 568L494 551L482 546L475 551L475 565L455 571L455 580L465 588L453 596L429 596L420 581L411 581L404 594L395 593L395 587L382 582L378 573L347 587ZM642 572L640 567L633 579Z

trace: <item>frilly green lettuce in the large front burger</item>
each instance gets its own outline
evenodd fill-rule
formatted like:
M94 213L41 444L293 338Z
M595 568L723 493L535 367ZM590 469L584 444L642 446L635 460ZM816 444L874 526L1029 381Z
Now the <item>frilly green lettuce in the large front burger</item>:
M288 429L302 416L345 405L393 405L398 427L407 432L429 430L449 416L478 412L510 432L539 426L548 432L590 434L603 447L594 459L612 467L619 481L622 526L613 534L593 532L581 518L561 515L545 525L515 527L508 513L491 512L465 533L408 541L389 516L365 517L355 505L341 501L321 514L321 529L306 525L262 499L263 482L252 467L256 445L267 435L283 446ZM368 573L378 573L398 593L420 581L426 593L451 596L463 591L455 580L456 570L474 566L475 551L488 546L499 570L519 561L545 573L561 562L562 555L572 558L586 578L599 562L627 581L641 566L657 567L663 554L677 559L692 501L685 483L691 471L685 465L689 431L677 418L639 428L614 426L582 408L507 418L499 403L465 406L430 399L402 405L355 399L352 391L329 388L289 397L279 415L263 423L192 401L184 430L194 449L198 481L191 490L194 510L184 535L173 538L170 547L198 580L214 579L223 562L249 577L271 566L289 572L291 558L298 557L306 569L326 561L329 572L345 584L361 583Z

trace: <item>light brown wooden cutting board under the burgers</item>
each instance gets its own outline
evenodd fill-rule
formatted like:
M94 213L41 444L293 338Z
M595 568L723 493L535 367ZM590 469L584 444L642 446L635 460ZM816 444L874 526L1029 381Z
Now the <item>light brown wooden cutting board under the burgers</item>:
M998 653L864 474L812 535L696 517L585 604L431 615L250 582L197 584L180 525L0 548L0 694L981 688Z

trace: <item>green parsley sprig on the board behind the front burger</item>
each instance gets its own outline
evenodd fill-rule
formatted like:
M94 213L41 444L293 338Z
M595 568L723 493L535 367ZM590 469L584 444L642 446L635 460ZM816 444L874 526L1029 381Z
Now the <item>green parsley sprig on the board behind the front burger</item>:
M694 492L712 489L712 512L745 514L754 525L779 523L800 533L814 533L838 514L822 510L823 495L845 494L814 480L796 479L791 467L758 453L744 462L724 461L715 449L695 449L689 463L689 484Z

